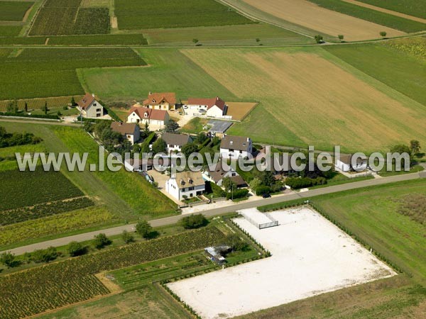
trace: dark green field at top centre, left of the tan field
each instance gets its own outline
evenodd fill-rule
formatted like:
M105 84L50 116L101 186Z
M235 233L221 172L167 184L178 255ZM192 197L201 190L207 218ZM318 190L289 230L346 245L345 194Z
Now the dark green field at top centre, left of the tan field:
M121 30L253 23L214 0L116 0L114 13Z

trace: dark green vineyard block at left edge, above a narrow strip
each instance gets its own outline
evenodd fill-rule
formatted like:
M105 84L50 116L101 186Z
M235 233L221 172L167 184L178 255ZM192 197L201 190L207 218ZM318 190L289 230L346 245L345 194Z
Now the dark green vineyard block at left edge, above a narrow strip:
M3 171L0 181L3 198L0 211L84 195L61 172L45 172L43 167L37 167L34 172Z

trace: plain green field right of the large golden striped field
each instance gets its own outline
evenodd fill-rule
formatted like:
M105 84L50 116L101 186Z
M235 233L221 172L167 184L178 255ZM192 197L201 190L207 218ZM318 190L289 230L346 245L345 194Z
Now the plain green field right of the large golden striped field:
M386 45L330 45L324 50L426 105L426 63Z

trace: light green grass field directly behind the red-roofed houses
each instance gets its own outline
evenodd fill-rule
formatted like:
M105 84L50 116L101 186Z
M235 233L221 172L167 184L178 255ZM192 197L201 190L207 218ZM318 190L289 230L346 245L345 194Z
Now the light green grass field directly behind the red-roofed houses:
M80 69L79 75L87 91L97 92L102 99L146 99L150 91L175 92L178 99L190 96L221 96L234 100L220 82L175 49L137 49L148 67Z

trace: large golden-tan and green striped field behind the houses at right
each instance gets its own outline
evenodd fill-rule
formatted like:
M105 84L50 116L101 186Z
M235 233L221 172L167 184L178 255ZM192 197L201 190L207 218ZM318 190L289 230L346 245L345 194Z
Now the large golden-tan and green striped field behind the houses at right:
M321 48L182 52L239 99L261 101L230 134L368 152L426 144L424 106Z

